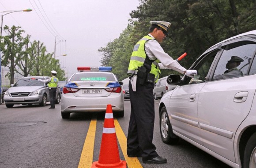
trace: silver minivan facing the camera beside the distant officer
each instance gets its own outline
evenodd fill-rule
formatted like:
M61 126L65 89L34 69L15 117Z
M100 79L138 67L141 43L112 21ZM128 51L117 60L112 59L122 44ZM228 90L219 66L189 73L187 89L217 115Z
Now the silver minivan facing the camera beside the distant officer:
M29 76L20 78L5 92L3 97L5 106L8 108L18 104L40 104L41 106L46 106L46 102L50 101L49 88L47 83L36 79L45 80L47 78L49 78L49 76ZM60 98L60 91L57 89L56 104L59 104Z

